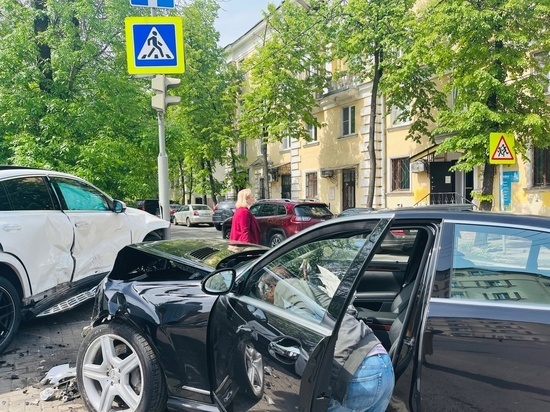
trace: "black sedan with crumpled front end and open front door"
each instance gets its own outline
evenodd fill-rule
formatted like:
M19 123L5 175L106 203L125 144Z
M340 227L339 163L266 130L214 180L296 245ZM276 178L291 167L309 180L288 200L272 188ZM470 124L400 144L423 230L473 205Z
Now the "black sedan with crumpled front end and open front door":
M405 229L416 233L411 250L379 247ZM326 410L350 304L392 358L389 411L547 409L549 218L374 212L265 249L223 240L124 248L77 357L89 410ZM304 295L310 310L294 312L263 300L264 274L281 265L330 303Z

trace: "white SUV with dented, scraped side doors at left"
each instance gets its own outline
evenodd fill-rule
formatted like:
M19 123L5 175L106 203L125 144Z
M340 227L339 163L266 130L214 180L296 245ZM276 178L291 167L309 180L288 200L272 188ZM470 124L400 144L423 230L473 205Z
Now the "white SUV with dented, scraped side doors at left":
M1 166L0 226L1 353L21 320L92 298L120 249L169 225L76 176Z

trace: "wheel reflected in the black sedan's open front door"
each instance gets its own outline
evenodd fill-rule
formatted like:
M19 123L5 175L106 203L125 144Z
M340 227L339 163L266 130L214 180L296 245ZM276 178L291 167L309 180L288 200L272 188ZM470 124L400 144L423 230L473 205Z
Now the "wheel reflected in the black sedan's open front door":
M262 354L251 341L239 344L236 372L243 393L252 400L259 401L264 395L264 362Z

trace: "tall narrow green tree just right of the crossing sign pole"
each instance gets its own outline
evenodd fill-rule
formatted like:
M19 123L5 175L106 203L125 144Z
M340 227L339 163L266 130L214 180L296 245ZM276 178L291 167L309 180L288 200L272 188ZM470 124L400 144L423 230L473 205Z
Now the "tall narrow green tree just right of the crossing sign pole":
M181 11L186 71L175 90L181 104L171 115L176 137L170 143L187 188L210 193L215 203L223 184L216 181L214 170L229 163L228 153L237 144L234 117L240 78L233 67L226 66L223 50L217 46L218 9L215 0L195 0Z

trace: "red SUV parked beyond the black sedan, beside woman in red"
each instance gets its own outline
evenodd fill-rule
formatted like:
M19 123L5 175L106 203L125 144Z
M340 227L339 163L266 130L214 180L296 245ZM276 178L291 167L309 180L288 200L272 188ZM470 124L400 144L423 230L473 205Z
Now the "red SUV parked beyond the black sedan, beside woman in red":
M334 216L325 203L289 199L260 200L250 207L260 225L260 242L273 247L306 227ZM222 226L224 239L229 239L232 218Z

